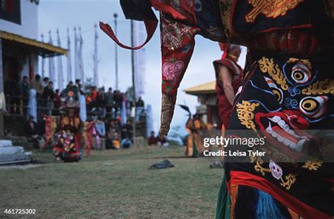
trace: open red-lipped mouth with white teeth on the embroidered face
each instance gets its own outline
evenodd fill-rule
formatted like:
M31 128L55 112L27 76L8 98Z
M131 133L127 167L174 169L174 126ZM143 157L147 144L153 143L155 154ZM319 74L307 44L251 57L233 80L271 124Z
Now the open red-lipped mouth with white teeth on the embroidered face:
M267 141L292 158L300 158L300 152L311 136L307 130L309 122L299 111L256 113L255 121Z

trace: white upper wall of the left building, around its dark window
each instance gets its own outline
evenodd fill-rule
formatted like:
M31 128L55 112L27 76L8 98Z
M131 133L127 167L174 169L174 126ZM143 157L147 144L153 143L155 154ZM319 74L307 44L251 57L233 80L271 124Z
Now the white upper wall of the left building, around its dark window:
M30 0L20 0L21 25L0 19L0 30L30 39L38 39L38 6Z

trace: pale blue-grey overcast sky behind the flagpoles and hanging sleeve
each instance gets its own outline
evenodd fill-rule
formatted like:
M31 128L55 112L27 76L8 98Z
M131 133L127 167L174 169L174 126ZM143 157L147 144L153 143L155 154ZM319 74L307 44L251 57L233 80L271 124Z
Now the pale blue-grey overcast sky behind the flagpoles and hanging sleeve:
M39 35L44 34L44 40L49 39L51 30L56 42L56 29L59 29L63 47L67 47L66 30L70 28L73 41L75 26L81 26L84 39L85 75L92 77L92 51L94 51L94 24L103 21L113 26L113 13L118 13L118 37L124 44L130 44L130 21L125 20L118 0L42 0L39 1ZM99 85L115 87L115 44L104 32L98 30L99 41ZM245 49L244 49L245 51ZM245 52L244 52L245 54ZM216 42L203 37L196 37L196 46L190 65L179 88L178 103L187 104L194 113L197 104L195 96L187 95L183 89L214 80L212 61L221 57L221 51ZM73 58L73 55L72 55ZM131 55L130 51L118 48L119 87L125 91L131 86ZM146 46L146 88L143 99L145 104L151 104L154 114L154 127L157 131L160 123L161 104L161 53L159 30ZM240 58L243 66L245 58ZM74 63L74 60L72 60ZM63 58L66 74L66 58ZM46 70L48 67L46 66ZM74 69L74 67L73 67ZM66 75L65 75L65 78ZM186 114L176 107L172 126L185 126Z

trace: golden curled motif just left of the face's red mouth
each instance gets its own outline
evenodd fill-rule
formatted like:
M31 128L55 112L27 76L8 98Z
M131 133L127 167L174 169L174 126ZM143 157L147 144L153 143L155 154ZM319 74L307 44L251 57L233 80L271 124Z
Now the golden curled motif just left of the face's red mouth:
M240 123L248 129L254 130L254 132L256 132L256 129L253 122L253 112L256 106L259 106L259 103L252 104L248 101L242 101L242 104L237 104L237 118L240 120Z

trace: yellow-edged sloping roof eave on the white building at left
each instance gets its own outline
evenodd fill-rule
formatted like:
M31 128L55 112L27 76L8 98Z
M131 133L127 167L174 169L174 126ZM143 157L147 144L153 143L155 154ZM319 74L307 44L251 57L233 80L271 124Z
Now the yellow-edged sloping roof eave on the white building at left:
M9 32L0 31L0 37L4 44L13 44L19 46L25 46L27 49L35 50L40 56L67 56L67 49L63 49L59 46L53 46L44 42L39 42L35 39L29 39L20 35L15 35Z

